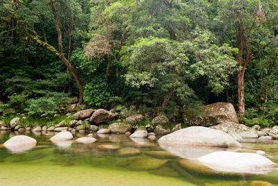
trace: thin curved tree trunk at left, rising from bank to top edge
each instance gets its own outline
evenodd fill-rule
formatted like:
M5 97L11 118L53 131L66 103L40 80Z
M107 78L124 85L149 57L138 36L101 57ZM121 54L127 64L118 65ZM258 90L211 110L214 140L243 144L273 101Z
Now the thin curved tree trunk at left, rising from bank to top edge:
M57 53L58 58L60 58L60 60L62 60L64 65L67 67L67 69L69 69L70 74L72 74L72 76L74 77L74 80L76 81L76 84L79 87L79 103L83 103L83 85L79 79L79 76L77 76L76 71L74 70L74 68L72 67L70 62L67 60L67 58L65 58L65 55L63 53L62 32L60 30L58 16L57 16L57 12L56 12L56 8L54 6L53 0L50 0L50 6L51 6L52 13L54 15L55 28L58 33L58 53ZM54 49L54 47L52 47L52 49ZM54 52L54 53L56 53L56 52Z

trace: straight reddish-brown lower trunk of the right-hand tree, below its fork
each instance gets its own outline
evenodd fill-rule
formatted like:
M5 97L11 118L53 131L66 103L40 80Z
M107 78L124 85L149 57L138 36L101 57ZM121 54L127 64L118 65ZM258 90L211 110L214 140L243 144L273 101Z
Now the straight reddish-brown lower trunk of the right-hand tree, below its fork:
M238 71L238 117L244 117L244 112L245 112L244 74L245 74L245 69L240 69Z

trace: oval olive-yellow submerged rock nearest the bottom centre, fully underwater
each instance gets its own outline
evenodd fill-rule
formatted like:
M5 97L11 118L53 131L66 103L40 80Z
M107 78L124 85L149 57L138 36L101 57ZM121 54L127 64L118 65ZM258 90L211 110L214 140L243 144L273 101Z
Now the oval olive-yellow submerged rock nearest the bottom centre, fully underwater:
M131 162L131 164L129 164L129 169L135 171L152 170L162 167L166 162L167 160L161 160L157 158L142 158Z

